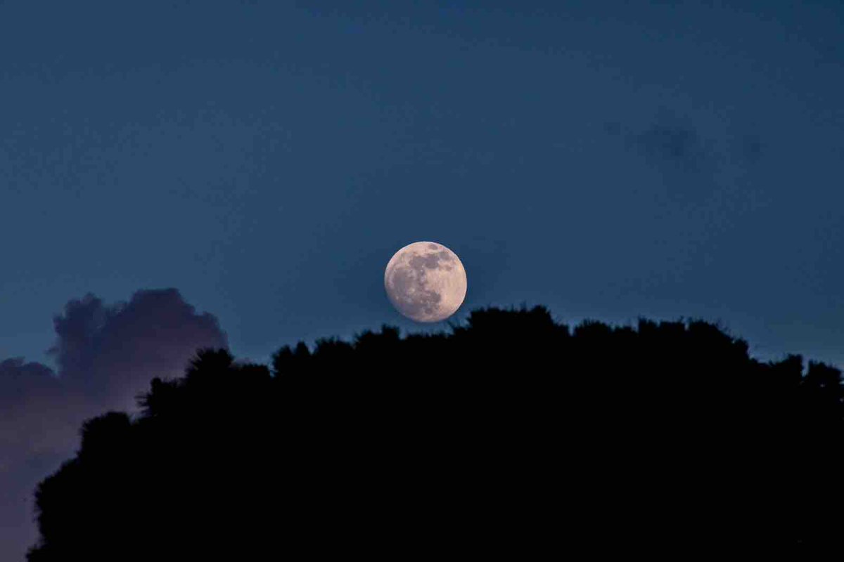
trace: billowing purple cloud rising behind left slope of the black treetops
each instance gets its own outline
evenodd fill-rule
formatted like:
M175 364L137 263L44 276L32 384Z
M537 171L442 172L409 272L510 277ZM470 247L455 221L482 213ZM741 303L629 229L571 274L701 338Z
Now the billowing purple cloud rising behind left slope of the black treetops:
M228 348L212 314L176 289L107 305L92 294L54 320L58 372L21 357L0 361L0 543L31 543L32 492L78 446L82 421L134 409L152 377L181 375L200 347Z

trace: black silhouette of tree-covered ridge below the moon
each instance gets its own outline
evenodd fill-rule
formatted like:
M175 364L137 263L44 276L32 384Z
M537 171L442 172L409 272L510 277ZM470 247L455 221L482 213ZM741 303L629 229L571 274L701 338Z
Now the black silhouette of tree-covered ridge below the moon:
M31 562L841 547L841 372L705 322L490 308L151 386L39 485Z

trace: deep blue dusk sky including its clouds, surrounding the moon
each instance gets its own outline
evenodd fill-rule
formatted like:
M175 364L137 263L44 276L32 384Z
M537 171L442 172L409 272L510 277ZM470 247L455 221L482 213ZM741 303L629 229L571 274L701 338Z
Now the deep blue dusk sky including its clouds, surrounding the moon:
M81 420L195 345L430 329L383 287L417 240L457 320L844 366L844 4L650 4L0 0L0 559Z

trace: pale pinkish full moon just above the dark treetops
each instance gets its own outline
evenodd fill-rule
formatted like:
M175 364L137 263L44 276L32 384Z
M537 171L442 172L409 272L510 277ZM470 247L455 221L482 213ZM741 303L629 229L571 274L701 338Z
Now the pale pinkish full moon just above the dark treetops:
M445 320L466 297L466 270L452 250L436 242L414 242L398 250L384 270L392 306L417 322Z

